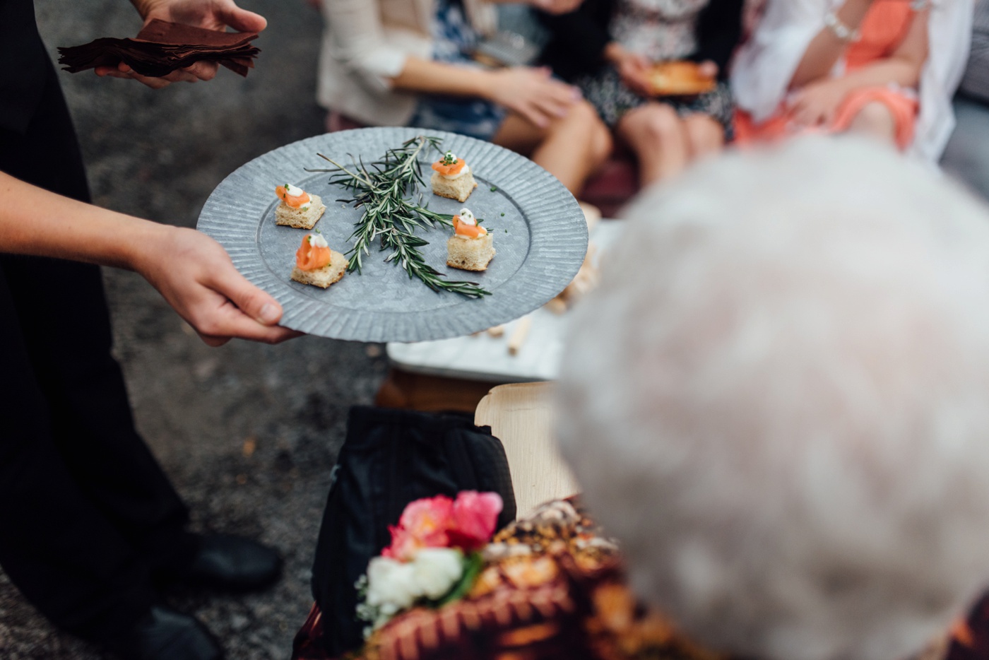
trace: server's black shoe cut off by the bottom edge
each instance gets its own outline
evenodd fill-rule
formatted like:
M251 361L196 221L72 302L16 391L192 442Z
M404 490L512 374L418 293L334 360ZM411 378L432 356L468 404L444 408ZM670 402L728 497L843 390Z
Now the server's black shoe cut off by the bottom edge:
M107 646L125 660L220 660L224 650L195 616L153 606Z

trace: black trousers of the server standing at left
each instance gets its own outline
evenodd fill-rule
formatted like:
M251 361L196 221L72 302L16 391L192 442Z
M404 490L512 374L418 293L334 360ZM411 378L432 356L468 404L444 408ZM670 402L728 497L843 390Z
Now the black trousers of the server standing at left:
M27 135L0 130L0 170L88 201L50 66ZM153 576L194 549L111 342L98 267L0 254L0 566L52 622L95 640L146 613Z

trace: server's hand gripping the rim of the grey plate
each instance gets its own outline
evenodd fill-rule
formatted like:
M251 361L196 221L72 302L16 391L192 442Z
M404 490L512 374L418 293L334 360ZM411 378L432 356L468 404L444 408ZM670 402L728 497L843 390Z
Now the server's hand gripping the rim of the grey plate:
M220 243L195 230L156 226L160 236L142 241L135 270L211 346L233 337L279 343L301 332L275 324L282 306L237 272Z

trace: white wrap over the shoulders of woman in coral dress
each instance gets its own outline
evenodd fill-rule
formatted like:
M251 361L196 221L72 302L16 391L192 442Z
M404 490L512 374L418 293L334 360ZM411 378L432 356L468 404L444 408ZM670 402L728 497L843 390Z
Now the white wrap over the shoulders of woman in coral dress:
M740 108L756 122L768 119L829 11L845 0L768 0L753 38L739 50L732 87ZM951 96L958 87L972 37L972 0L934 0L928 59L918 90L920 116L910 152L937 162L954 129ZM839 61L836 71L844 69Z

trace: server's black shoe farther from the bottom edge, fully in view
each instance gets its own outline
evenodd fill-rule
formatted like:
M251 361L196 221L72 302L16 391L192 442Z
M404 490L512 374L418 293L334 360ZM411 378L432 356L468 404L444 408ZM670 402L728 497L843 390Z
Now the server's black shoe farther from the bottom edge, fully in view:
M274 583L282 575L278 551L240 536L203 536L199 550L180 579L194 587L247 591Z

